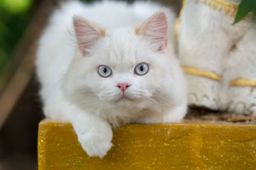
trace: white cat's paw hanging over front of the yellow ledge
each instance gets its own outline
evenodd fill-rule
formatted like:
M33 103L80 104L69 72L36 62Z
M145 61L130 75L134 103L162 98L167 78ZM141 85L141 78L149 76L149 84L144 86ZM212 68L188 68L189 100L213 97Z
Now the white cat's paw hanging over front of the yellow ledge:
M100 159L102 159L113 146L111 139L104 138L104 136L97 133L82 134L78 137L87 155L89 157L100 157Z

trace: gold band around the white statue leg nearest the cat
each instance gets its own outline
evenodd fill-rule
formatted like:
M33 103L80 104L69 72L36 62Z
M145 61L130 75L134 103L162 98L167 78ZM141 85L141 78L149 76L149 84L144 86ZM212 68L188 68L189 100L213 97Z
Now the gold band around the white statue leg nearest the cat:
M194 67L189 67L189 66L182 66L182 69L184 70L184 72L186 74L192 74L192 75L195 75L195 76L203 76L203 77L206 77L206 78L211 78L212 80L216 80L216 81L221 81L221 76L216 74L216 73L213 73L211 71L202 71L200 69L196 69Z

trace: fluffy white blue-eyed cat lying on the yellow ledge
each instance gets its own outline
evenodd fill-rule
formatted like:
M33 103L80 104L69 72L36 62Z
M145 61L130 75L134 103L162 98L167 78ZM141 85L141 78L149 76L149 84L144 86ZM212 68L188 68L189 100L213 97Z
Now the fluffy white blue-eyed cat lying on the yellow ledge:
M91 157L111 148L111 126L180 122L186 113L175 16L161 8L70 1L53 13L39 41L45 116L70 122Z

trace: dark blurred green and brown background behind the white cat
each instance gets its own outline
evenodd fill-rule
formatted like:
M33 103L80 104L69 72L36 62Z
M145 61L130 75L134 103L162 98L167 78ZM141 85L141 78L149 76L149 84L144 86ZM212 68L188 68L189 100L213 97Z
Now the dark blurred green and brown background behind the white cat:
M181 0L157 2L172 6L177 13L182 3ZM47 25L47 18L60 3L0 1L0 169L37 169L38 123L44 115L33 59L36 41Z

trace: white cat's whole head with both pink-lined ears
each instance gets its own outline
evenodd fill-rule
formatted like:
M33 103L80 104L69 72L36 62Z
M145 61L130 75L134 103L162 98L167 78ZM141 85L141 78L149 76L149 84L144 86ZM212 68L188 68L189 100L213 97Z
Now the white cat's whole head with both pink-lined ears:
M74 103L84 108L159 111L176 100L183 77L164 10L132 29L108 30L74 17L74 31L77 52L63 81L64 92Z

